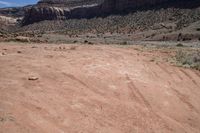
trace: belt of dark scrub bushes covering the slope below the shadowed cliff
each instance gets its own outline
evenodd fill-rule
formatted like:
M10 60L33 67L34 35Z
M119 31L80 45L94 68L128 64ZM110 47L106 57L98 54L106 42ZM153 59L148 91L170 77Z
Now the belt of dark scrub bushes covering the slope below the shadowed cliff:
M92 19L69 19L65 21L42 21L24 27L15 28L15 32L35 31L41 33L54 31L68 35L88 32L134 33L135 31L153 29L155 24L162 22L175 23L175 30L179 30L198 20L200 20L200 10L198 8L188 10L168 8L161 10L138 11L125 16L112 15L105 18L99 17Z

